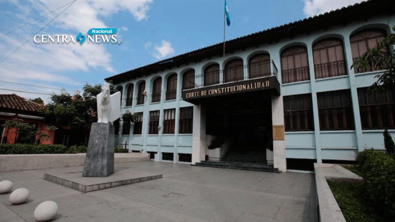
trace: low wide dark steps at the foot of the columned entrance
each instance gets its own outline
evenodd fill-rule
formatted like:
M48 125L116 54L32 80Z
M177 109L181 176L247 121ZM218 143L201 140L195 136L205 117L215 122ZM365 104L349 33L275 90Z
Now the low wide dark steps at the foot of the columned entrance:
M244 163L235 163L235 162L202 161L200 163L196 163L195 165L204 166L204 167L217 167L217 168L226 168L226 169L242 169L242 170L251 170L251 171L266 171L266 172L279 173L278 169L273 168L272 166L251 164L251 163L244 164Z

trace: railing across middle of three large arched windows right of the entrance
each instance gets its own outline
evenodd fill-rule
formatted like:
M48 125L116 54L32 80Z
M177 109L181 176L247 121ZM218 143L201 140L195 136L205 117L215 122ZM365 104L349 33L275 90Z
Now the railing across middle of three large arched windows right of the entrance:
M314 65L316 79L347 75L346 62L335 61Z

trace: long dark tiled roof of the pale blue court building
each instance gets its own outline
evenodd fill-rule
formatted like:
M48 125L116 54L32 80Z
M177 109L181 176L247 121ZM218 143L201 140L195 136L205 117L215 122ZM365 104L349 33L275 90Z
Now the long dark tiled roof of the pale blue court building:
M268 28L260 32L255 32L246 36L241 36L233 40L226 41L226 53L232 53L237 50L262 45L264 43L277 42L281 39L292 38L300 34L309 34L317 30L325 30L335 25L346 25L350 21L367 20L374 15L386 14L391 15L395 11L394 0L367 0L356 3L348 7L325 12L324 14L314 15L303 20L294 21L273 28ZM106 78L106 81L119 83L149 75L158 71L164 71L190 62L199 62L205 58L213 56L222 56L223 43L217 43L201 49L190 51L181 55L167 58L162 61L125 71L117 75Z

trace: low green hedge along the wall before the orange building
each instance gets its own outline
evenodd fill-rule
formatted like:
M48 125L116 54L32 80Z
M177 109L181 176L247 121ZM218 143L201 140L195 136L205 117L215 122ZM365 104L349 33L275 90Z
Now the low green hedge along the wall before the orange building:
M64 145L41 145L41 144L0 144L0 154L44 154L44 153L66 153Z

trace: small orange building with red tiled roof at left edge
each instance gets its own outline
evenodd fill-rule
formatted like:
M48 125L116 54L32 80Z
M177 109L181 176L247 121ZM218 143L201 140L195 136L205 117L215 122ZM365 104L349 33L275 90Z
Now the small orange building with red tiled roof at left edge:
M16 94L0 94L0 132L1 143L40 143L53 144L55 131L47 130L47 124L40 113L44 105L26 100ZM37 135L35 138L28 138L27 132L17 132L15 128L7 129L2 125L7 120L22 119L23 122L34 124ZM40 139L39 134L48 135L45 139Z

